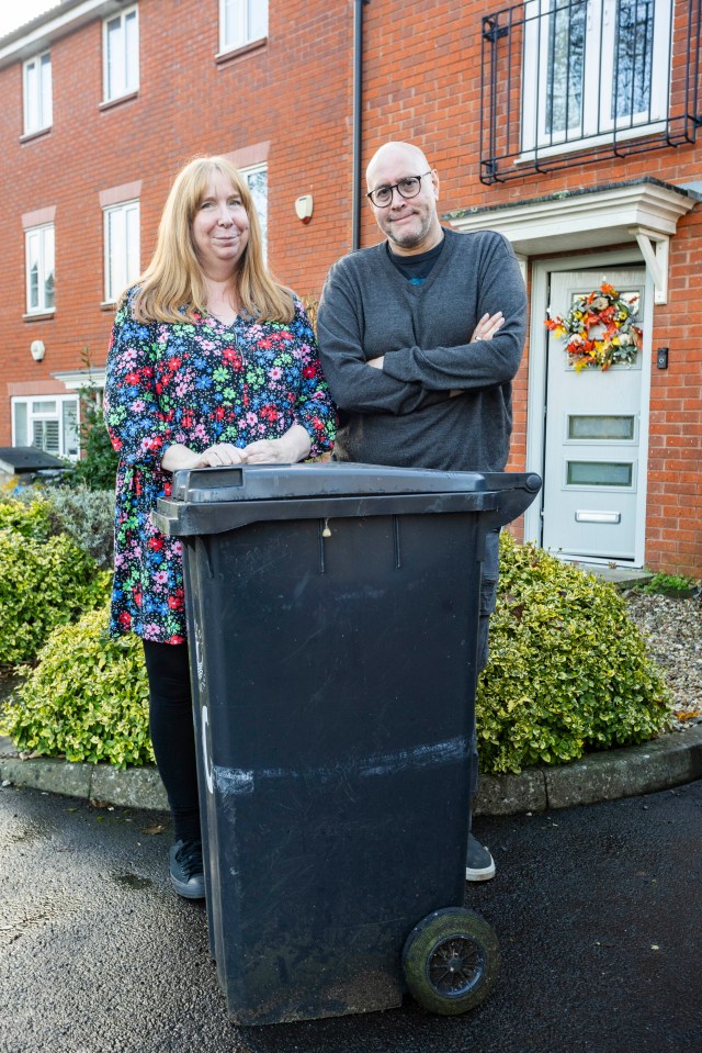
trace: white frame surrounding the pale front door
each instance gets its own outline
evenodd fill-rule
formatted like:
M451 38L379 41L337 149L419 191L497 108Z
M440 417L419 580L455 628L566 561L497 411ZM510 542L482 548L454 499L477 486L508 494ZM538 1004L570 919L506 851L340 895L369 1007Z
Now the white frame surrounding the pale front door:
M643 567L646 549L646 508L648 484L648 423L650 410L650 368L653 348L654 280L636 246L612 253L592 253L587 256L556 256L532 261L531 309L529 334L529 378L526 395L526 470L544 474L546 433L546 349L548 333L543 323L548 306L551 275L556 271L584 270L597 267L603 271L614 267L641 267L645 270L646 296L644 303L644 344L642 358L642 390L639 421L639 471L636 506L634 559L616 560L621 567ZM542 544L543 538L543 489L524 513L524 540ZM607 559L577 556L563 557L568 561L607 564Z

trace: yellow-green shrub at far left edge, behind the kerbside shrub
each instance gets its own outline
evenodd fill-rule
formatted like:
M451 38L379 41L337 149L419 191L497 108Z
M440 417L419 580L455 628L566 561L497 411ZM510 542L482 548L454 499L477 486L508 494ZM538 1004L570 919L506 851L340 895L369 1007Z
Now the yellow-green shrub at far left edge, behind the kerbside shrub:
M102 601L107 578L65 534L0 530L0 665L31 661L55 626Z

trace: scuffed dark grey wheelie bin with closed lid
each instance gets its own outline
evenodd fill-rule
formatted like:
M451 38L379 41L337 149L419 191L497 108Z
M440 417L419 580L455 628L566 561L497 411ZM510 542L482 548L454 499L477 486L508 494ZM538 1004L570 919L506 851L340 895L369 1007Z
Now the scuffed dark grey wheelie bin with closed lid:
M463 908L480 560L541 481L178 472L211 948L244 1024L488 994Z

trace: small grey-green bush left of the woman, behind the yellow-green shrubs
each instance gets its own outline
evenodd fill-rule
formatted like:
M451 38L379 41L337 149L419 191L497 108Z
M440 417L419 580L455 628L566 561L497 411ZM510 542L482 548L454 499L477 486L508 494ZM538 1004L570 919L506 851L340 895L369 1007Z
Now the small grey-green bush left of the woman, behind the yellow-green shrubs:
M50 486L45 491L53 534L69 534L98 567L112 567L114 550L114 486Z

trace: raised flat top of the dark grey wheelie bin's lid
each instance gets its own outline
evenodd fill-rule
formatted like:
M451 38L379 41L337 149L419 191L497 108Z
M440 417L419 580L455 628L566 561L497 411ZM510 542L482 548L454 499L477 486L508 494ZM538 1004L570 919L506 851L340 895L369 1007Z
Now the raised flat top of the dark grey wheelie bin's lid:
M478 493L488 489L486 477L478 472L321 461L312 464L233 464L179 471L173 474L171 497L210 504L286 497Z

